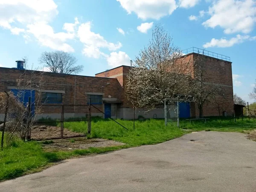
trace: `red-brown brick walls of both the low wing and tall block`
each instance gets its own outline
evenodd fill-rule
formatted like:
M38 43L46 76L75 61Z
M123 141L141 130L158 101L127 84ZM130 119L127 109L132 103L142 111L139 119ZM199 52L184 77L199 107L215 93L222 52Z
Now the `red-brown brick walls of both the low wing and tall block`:
M177 64L184 64L180 65L180 67L185 66L187 69L186 72L190 73L192 77L195 76L194 61L195 57L197 56L198 54L195 53L188 54L180 58L180 61L177 62ZM206 61L203 68L207 72L209 80L213 83L220 84L225 90L225 99L222 97L216 97L215 101L204 106L204 116L218 116L219 109L221 115L223 111L227 111L227 114L231 115L233 113L233 82L231 62L221 61L207 56L203 57L205 57ZM96 77L44 73L44 86L42 89L64 90L65 93L63 94L62 104L86 105L87 95L85 93L97 92L104 93L103 97L111 96L111 98L116 98L118 101L122 101L122 104L119 105L120 108L132 108L131 102L129 102L125 96L125 80L130 69L131 68L129 66L120 66L112 70L108 70L107 73L98 73L95 75ZM0 67L0 92L4 90L8 91L8 86L17 86L17 79L20 77L24 78L23 72L23 70ZM26 73L26 78L29 79L30 72L26 71ZM38 76L41 74L41 72L35 73L38 73ZM105 74L109 78L105 78ZM219 109L217 104L219 104ZM103 110L102 105L98 107L100 110ZM59 109L56 107L56 109L53 109L53 111L59 111ZM72 111L72 109L70 109L70 111ZM93 112L96 113L97 111ZM194 103L191 103L191 115L199 115L198 107Z

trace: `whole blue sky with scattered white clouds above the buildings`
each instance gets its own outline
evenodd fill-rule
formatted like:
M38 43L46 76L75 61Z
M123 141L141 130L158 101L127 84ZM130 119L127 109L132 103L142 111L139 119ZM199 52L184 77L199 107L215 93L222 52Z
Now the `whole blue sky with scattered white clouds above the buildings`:
M156 23L181 49L198 47L231 58L234 93L256 79L255 0L0 0L0 66L42 67L44 51L63 50L84 66L80 75L129 65Z

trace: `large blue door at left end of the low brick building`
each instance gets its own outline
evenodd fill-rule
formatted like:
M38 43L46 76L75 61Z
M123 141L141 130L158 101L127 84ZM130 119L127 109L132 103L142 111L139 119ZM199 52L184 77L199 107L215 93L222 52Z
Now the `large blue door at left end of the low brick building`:
M26 106L29 103L29 97L31 98L31 113L34 114L35 112L35 90L19 90L19 89L12 89L12 93L18 97L20 102Z

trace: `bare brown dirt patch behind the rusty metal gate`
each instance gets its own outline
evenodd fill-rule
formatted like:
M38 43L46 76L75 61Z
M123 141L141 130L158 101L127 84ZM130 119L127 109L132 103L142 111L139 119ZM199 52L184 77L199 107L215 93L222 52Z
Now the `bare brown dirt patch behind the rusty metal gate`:
M84 134L69 131L66 128L64 128L63 131L64 137L78 137L83 135ZM31 137L33 140L61 138L61 128L49 125L35 125L31 128Z

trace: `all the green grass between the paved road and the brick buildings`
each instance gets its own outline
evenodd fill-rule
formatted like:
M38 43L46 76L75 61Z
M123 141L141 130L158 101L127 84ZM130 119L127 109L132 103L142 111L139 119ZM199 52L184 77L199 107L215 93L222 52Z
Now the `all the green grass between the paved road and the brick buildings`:
M112 120L94 118L92 121L92 133L89 138L104 138L116 140L126 145L105 148L89 148L72 151L46 152L42 149L39 142L23 142L15 140L9 146L5 146L0 151L0 180L6 180L26 173L38 172L52 163L64 160L70 157L77 157L86 154L97 154L107 151L114 151L120 148L129 148L140 145L150 145L162 143L167 140L180 137L189 131L250 131L256 129L256 120L254 119L207 119L207 122L180 120L180 128L177 128L177 122L169 123L165 128L163 119L148 119L145 121L136 121L135 130L133 121L117 120L120 124L128 128L128 131L116 124ZM65 122L64 127L71 131L86 133L86 122ZM1 132L0 132L1 136Z

